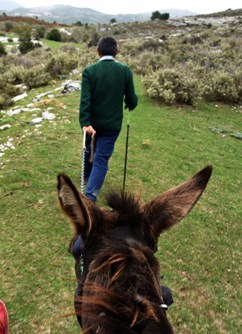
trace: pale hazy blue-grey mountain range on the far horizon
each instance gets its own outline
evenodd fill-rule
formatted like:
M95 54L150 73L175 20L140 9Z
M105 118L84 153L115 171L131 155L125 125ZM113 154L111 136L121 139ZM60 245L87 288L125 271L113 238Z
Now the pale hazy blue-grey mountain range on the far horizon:
M170 17L175 16L190 16L195 15L190 11L179 10L179 9L167 9L161 10L160 13L169 13ZM58 23L72 24L77 21L82 23L109 23L111 19L115 18L118 23L122 22L135 22L135 21L146 21L151 17L151 12L140 13L140 14L104 14L90 8L79 8L65 5L55 6L43 6L34 8L16 8L8 15L14 16L32 16L38 17L41 20L47 22L56 21Z

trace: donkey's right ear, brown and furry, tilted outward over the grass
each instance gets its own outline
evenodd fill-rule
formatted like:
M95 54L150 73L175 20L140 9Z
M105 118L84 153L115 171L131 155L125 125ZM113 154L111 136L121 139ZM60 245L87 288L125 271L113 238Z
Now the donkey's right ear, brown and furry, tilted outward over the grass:
M207 166L190 180L168 190L144 206L152 234L158 239L160 233L182 220L202 195L212 173Z

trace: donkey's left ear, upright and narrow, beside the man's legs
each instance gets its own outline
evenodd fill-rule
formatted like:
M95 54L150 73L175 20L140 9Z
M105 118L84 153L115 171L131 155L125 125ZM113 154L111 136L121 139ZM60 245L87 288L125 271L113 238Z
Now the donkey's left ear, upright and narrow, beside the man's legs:
M67 175L59 174L57 179L58 197L62 210L70 219L75 233L86 236L92 225L87 208L88 200L78 192Z

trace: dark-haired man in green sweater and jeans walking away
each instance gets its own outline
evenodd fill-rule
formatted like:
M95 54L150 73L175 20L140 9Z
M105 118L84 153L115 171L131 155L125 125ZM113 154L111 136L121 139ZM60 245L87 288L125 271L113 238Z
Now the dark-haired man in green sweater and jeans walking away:
M103 37L97 45L99 61L82 73L79 122L86 132L84 179L85 195L95 202L108 171L108 161L119 136L123 120L123 104L135 109L133 75L128 65L115 60L117 41ZM89 161L91 138L94 137L94 158Z

